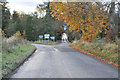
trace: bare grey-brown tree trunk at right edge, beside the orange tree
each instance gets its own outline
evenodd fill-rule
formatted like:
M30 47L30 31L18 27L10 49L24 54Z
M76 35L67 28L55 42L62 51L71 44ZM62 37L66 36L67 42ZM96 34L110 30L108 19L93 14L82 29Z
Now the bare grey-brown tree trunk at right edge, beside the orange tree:
M104 4L101 2L96 2L96 4L99 8L106 8L106 12L109 15L110 30L105 39L107 42L115 42L118 37L120 26L120 2L114 2L114 0L111 0L110 2L105 2Z

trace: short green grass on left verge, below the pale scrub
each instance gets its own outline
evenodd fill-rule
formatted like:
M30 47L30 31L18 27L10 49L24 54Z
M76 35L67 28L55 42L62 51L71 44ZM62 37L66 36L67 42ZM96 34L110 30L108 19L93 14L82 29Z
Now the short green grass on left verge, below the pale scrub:
M31 44L19 45L12 52L2 53L2 75L5 76L17 68L32 52L35 46Z

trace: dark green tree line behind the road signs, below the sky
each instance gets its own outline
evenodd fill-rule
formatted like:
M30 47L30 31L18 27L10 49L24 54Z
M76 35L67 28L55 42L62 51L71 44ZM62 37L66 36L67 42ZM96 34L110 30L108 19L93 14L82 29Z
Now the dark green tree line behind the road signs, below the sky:
M21 36L29 41L36 41L39 35L50 34L60 40L63 29L63 22L55 20L50 15L49 3L38 5L37 11L31 14L13 11L7 7L7 1L0 1L2 6L2 31L5 37L13 36L20 31ZM45 16L43 16L46 14Z

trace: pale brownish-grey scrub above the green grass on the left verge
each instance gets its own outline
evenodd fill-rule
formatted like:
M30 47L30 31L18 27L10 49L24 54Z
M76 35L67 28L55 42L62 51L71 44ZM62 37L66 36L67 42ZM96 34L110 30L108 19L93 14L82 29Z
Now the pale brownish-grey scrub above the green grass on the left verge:
M2 39L2 51L5 53L10 53L16 46L25 45L28 41L20 37L20 32L16 32L14 36L10 38Z

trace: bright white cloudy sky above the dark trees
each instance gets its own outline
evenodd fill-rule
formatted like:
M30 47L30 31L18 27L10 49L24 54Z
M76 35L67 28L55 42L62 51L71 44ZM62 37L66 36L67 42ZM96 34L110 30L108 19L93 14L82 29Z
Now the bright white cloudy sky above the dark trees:
M24 11L25 13L31 13L35 11L38 4L43 4L43 1L47 0L7 0L10 12Z

